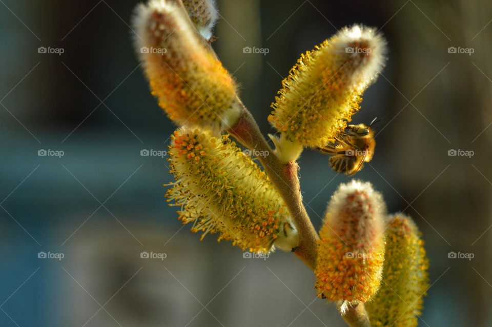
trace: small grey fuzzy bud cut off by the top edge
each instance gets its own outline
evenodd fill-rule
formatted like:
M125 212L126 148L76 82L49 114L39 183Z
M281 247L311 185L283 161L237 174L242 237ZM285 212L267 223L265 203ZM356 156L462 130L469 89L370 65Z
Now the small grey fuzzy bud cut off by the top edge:
M215 0L183 0L183 5L198 32L209 40L219 17Z

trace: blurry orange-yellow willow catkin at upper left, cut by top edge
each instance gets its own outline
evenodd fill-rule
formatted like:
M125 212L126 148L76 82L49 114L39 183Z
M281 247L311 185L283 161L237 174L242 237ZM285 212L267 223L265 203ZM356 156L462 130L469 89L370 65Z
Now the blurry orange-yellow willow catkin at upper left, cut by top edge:
M234 126L240 112L235 82L185 9L174 0L152 0L136 8L133 26L152 94L170 119L216 133Z

